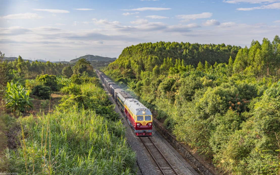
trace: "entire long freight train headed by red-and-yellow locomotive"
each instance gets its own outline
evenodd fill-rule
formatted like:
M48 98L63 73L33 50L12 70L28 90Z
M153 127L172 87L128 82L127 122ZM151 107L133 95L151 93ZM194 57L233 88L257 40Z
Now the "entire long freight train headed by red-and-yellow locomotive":
M110 80L104 73L99 70L96 70L96 72L117 102L120 110L125 114L135 134L138 136L152 135L153 115L151 111Z

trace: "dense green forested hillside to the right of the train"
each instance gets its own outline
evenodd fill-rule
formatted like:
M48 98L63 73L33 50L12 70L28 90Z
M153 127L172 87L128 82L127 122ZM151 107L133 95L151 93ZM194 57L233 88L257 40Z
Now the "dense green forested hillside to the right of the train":
M141 43L104 72L225 174L280 173L280 38Z

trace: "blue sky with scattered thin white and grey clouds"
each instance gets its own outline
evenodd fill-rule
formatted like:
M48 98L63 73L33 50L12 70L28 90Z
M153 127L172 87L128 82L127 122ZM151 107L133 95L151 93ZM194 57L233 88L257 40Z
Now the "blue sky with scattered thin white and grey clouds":
M6 57L118 57L131 45L159 41L249 47L276 35L280 0L0 0Z

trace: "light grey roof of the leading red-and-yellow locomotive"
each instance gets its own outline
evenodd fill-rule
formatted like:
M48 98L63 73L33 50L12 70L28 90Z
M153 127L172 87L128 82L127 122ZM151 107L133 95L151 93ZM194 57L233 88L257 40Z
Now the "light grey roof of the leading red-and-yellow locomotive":
M136 116L152 115L151 111L136 99L127 99L124 103Z

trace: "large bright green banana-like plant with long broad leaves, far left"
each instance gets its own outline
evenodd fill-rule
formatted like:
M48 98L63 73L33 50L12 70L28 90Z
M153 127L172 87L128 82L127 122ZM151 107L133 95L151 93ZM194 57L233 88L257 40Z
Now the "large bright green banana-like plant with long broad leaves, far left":
M24 112L32 108L33 98L29 97L29 90L14 81L7 83L6 93L4 96L6 108L13 111Z

